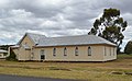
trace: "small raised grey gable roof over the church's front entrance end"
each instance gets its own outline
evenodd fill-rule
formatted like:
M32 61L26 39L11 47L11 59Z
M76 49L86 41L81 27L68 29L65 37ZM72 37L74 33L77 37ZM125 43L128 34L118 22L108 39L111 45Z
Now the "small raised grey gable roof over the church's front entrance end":
M25 33L25 35L22 37L22 39L20 39L20 42L18 43L21 44L21 42L23 40L23 38L25 36L29 36L29 38L34 43L34 44L38 44L41 38L45 38L45 35L41 35L41 34L33 34L33 33Z

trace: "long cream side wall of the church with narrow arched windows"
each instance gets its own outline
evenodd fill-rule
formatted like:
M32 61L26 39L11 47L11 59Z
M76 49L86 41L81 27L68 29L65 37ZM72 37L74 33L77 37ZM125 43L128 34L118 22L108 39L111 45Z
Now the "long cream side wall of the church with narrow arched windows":
M78 56L75 56L75 48L76 46L66 46L67 48L67 56L64 56L64 48L65 47L55 47L56 48L56 56L53 56L53 48L54 47L44 47L44 48L36 48L34 50L34 60L41 60L40 51L44 49L45 51L45 60L55 60L55 61L106 61L116 59L117 54L110 55L112 48L111 46L103 46L103 45L92 45L91 47L91 56L88 56L88 47L89 46L78 46ZM107 50L107 56L105 56L105 47Z

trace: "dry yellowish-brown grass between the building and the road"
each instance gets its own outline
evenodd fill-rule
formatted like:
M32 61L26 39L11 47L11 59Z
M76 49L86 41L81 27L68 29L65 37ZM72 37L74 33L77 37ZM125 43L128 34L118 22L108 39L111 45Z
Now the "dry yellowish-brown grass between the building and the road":
M119 72L113 74L113 72ZM118 55L109 62L18 62L0 61L0 73L80 79L88 81L132 81L132 55Z

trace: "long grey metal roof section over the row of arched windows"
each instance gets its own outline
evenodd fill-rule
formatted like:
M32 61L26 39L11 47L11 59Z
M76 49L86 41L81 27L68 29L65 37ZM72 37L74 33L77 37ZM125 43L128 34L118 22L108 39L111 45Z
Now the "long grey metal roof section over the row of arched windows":
M95 35L77 35L64 37L46 37L41 38L36 47L41 46L67 46L67 45L94 45L107 44L117 46L116 44Z

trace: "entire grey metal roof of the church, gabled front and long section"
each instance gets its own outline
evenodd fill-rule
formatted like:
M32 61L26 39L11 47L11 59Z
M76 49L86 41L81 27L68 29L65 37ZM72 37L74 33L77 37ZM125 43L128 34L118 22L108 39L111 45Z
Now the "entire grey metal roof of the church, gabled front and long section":
M63 36L63 37L46 37L45 35L26 33L18 45L23 40L25 36L36 44L36 47L47 47L47 46L69 46L69 45L96 45L96 44L107 44L111 46L117 46L116 44L96 36L96 35L76 35L76 36Z

